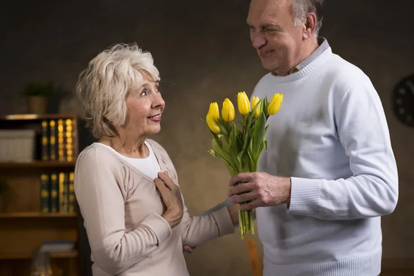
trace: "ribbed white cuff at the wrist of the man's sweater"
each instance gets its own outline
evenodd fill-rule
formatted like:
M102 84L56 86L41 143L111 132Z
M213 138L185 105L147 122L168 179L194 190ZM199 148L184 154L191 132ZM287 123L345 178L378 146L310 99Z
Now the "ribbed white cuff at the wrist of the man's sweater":
M290 191L290 205L288 214L308 215L315 217L319 210L321 182L319 179L290 177L292 187Z

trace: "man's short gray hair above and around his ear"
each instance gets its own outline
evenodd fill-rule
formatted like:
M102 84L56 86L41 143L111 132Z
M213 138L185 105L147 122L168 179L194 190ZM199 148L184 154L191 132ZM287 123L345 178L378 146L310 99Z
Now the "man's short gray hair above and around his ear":
M315 37L317 37L322 26L322 19L324 18L324 0L290 0L292 1L293 9L293 24L299 26L306 16L313 12L316 14L317 23L315 27Z

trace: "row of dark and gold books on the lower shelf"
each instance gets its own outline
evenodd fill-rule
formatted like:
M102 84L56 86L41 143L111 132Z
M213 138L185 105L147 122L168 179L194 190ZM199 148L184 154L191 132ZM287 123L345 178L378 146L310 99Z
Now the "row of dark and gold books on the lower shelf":
M75 213L74 172L41 174L41 213Z

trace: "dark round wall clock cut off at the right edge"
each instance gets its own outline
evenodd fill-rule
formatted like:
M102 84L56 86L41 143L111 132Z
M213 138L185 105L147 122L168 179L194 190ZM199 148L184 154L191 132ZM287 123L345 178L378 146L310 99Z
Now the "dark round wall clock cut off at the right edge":
M403 124L414 127L414 75L405 77L395 86L393 109Z

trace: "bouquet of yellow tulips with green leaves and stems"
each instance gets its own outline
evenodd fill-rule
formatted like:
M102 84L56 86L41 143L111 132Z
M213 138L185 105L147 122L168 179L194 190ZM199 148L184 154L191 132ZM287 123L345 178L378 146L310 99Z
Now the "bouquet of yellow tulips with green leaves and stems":
M268 101L267 97L259 99L253 97L252 103L246 92L237 94L237 107L242 115L242 121L234 122L235 108L230 99L226 98L219 114L219 105L210 103L206 121L213 135L213 148L208 152L224 161L230 175L233 177L239 172L257 171L257 161L264 148L267 149L265 139L268 125L266 121L270 115L279 112L282 106L283 95L275 94ZM251 108L250 108L251 106ZM246 204L246 203L243 203ZM253 214L251 210L239 210L239 228L244 239L244 233L254 234Z

